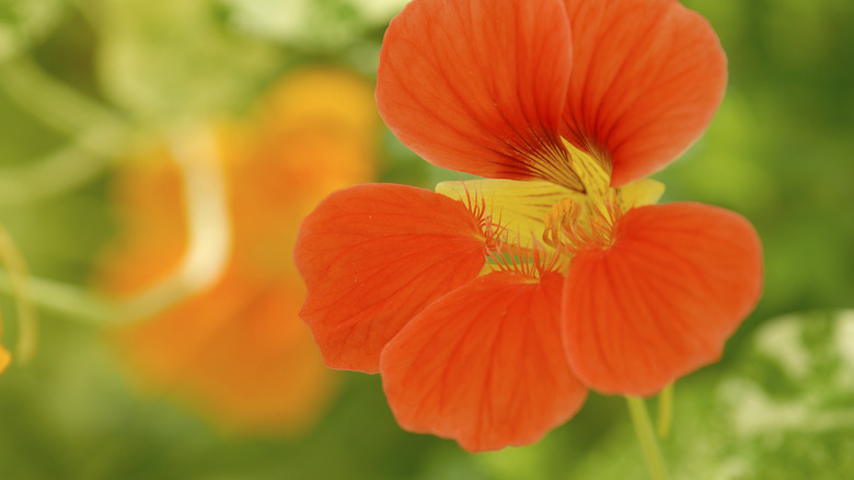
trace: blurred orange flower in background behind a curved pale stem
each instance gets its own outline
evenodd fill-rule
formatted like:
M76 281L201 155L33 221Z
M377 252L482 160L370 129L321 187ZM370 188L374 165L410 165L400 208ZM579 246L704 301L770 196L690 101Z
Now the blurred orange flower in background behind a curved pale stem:
M373 175L379 126L366 82L318 68L286 78L251 124L218 128L232 250L212 286L116 332L147 389L234 431L295 431L318 416L336 377L298 319L305 293L287 252L311 205ZM124 231L105 262L116 295L164 278L185 254L181 176L169 157L149 152L120 172Z

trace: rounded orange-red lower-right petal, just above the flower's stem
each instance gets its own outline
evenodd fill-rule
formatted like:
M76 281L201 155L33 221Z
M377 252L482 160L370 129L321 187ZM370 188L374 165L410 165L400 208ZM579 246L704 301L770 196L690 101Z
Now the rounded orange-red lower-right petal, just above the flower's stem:
M591 388L650 395L719 358L762 290L753 227L691 204L630 210L607 250L579 252L564 285L564 341Z

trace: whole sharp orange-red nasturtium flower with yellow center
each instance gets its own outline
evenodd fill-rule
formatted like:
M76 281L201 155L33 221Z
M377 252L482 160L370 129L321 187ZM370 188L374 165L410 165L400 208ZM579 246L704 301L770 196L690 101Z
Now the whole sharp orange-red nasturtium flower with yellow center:
M761 295L741 216L644 179L711 122L726 57L676 0L414 0L380 114L485 180L338 191L302 224L300 312L397 422L469 450L538 441L588 389L649 396L722 355Z

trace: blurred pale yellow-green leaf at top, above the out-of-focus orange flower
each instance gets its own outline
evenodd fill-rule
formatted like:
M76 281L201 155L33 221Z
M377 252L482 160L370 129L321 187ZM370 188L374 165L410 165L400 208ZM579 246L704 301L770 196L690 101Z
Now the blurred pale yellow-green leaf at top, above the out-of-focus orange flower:
M277 69L275 52L216 12L208 0L100 2L95 68L107 98L155 124L247 103Z

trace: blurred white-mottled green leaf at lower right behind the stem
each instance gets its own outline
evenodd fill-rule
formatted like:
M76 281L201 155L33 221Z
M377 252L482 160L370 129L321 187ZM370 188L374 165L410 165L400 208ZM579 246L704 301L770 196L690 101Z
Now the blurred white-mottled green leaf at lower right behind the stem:
M854 310L764 322L716 381L677 387L673 478L842 479L854 470ZM623 427L577 478L644 479Z

